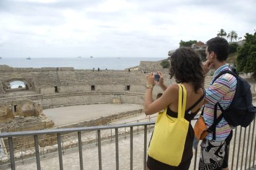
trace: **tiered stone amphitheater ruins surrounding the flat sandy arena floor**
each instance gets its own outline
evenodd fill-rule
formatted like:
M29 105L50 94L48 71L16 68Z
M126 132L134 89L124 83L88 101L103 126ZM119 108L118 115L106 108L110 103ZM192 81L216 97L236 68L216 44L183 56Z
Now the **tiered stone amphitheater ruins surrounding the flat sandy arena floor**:
M166 59L167 60L167 59ZM48 128L99 126L113 119L142 113L142 108L108 115L90 121L54 126L54 121L43 113L47 108L68 107L98 103L142 105L145 95L145 73L143 70L162 71L164 83L174 83L168 79L169 70L158 62L140 62L138 67L126 70L75 70L60 68L12 68L0 65L0 130L1 132L33 131ZM210 83L211 77L205 79ZM12 81L23 81L25 87L8 89ZM206 86L207 87L207 86ZM161 92L156 86L153 96ZM255 86L254 86L255 100ZM41 136L40 146L56 144L51 135ZM14 145L33 141L32 137L16 138ZM7 139L2 141L8 150ZM33 144L32 144L33 145ZM27 145L27 147L31 147Z

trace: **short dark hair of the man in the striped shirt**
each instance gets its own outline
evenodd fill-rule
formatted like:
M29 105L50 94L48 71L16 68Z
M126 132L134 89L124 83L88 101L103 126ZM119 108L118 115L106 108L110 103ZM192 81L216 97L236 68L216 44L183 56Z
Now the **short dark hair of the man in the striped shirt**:
M211 38L207 41L208 52L215 52L217 59L222 62L226 61L229 54L228 41L221 37Z

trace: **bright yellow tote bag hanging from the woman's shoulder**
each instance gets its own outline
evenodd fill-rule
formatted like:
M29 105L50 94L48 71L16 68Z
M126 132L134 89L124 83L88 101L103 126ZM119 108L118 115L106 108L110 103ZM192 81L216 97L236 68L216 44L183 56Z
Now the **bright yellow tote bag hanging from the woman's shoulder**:
M184 118L187 91L183 84L178 85L178 116L177 118L168 116L166 114L167 108L164 108L164 112L158 115L148 148L149 156L171 166L179 166L181 163L187 131L189 129L189 121Z

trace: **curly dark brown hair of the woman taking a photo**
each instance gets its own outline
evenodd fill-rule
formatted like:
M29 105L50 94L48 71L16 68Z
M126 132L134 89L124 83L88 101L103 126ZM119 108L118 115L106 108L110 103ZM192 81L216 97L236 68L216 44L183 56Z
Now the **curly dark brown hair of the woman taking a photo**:
M195 92L203 87L202 61L193 49L181 47L170 57L171 67L169 75L176 79L176 83L192 83Z

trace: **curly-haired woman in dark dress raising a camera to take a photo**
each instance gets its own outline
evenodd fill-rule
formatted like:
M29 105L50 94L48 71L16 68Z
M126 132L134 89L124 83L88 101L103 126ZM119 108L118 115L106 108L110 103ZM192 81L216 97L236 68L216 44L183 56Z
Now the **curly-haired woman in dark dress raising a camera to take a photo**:
M171 166L161 163L148 155L147 169L150 170L189 169L193 156L192 145L194 140L194 130L190 124L190 121L194 119L194 116L197 115L198 111L202 107L205 95L203 89L204 76L202 62L194 50L184 47L179 48L173 53L170 61L171 67L169 74L171 75L171 78L174 77L176 79L176 83L183 84L187 91L185 119L189 121L189 129L179 166ZM163 74L158 72L158 75L160 75L158 86L160 86L164 92L159 99L153 102L152 91L153 87L155 86L155 79L153 73L148 74L146 77L147 90L144 102L145 114L152 115L167 107L167 115L177 118L179 86L177 84L171 84L169 87L166 87L163 83Z

